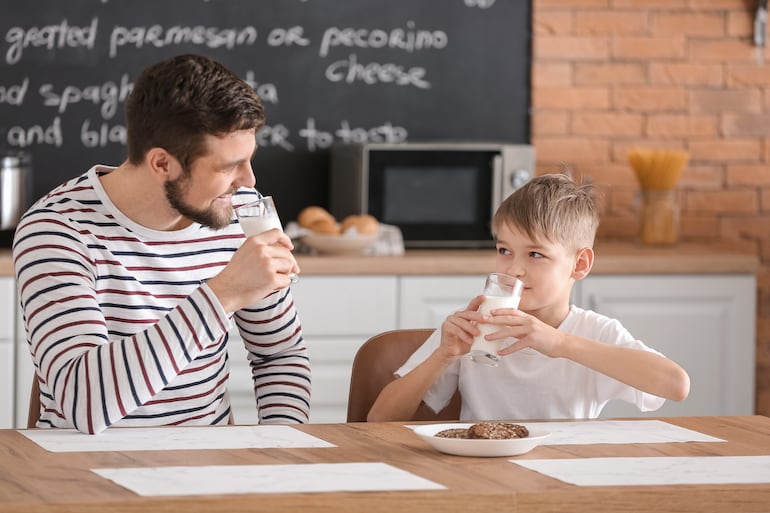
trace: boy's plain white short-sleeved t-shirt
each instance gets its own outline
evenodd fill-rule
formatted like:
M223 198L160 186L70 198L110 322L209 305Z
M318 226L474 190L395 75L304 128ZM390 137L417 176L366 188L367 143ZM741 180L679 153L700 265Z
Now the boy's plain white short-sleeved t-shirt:
M657 351L647 347L619 321L572 306L559 331L606 344ZM428 358L441 342L438 329L396 371L404 376ZM423 400L441 411L459 387L461 420L596 418L612 399L641 411L660 408L665 399L646 394L565 358L550 358L534 349L504 356L497 367L461 357L431 386Z

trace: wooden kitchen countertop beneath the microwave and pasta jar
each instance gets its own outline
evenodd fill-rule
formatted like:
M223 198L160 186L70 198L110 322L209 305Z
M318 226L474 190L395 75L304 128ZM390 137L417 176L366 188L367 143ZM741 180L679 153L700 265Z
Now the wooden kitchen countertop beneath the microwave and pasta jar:
M679 244L671 247L600 242L592 275L598 274L753 274L759 259L728 245ZM305 275L329 274L486 274L494 270L494 249L409 250L404 256L298 255ZM8 249L0 250L0 276L13 276Z

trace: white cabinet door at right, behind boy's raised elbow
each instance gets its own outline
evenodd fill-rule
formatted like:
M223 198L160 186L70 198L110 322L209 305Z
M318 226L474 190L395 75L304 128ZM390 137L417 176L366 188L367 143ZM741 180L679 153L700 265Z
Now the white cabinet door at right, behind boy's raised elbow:
M756 281L753 275L592 276L577 303L614 317L690 375L690 396L651 416L752 415ZM622 402L603 417L641 416Z

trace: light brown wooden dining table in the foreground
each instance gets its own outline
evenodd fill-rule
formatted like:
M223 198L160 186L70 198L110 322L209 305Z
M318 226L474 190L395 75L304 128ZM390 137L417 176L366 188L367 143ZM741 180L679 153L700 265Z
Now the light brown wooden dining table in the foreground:
M666 422L724 440L540 446L518 458L770 455L770 418L680 417ZM222 427L223 433L227 427ZM337 445L239 449L51 453L14 430L0 431L0 511L11 512L760 512L770 483L578 487L508 462L432 450L402 423L310 424L299 429ZM96 467L254 465L381 461L447 487L440 491L140 497L90 472Z

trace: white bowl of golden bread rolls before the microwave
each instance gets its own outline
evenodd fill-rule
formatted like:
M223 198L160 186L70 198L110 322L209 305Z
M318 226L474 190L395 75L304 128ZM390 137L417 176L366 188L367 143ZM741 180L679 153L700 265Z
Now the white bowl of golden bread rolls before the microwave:
M297 224L305 231L302 242L318 253L330 255L361 254L374 244L380 231L380 224L373 216L350 215L337 221L317 205L302 209Z

